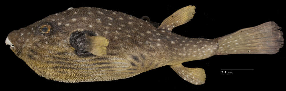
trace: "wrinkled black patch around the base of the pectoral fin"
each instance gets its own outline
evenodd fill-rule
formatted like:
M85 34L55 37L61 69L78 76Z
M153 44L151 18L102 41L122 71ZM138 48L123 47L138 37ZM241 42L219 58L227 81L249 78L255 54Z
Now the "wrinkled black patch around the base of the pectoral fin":
M92 31L76 31L73 32L69 38L70 45L75 49L75 53L78 56L90 56L91 52L86 51L86 36L96 36Z

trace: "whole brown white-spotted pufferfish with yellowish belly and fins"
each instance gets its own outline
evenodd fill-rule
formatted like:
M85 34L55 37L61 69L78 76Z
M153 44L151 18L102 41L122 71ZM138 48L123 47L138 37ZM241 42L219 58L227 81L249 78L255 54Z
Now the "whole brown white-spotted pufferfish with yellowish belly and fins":
M194 14L195 6L183 7L157 27L117 11L69 8L12 31L5 43L39 76L59 82L118 80L170 65L195 85L205 83L204 69L182 63L213 55L275 54L283 47L283 33L275 22L215 39L171 32Z

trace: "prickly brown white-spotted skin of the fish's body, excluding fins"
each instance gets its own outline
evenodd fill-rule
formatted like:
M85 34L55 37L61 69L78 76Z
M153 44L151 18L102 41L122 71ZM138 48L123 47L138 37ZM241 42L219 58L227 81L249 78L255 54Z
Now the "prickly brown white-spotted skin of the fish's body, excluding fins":
M50 25L49 33L41 26ZM69 43L76 31L109 40L107 54L78 56ZM47 16L8 35L11 50L38 75L61 82L128 78L165 65L215 55L216 39L186 38L120 12L81 7Z

